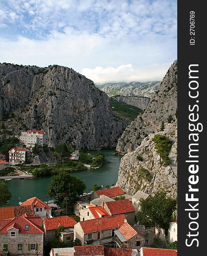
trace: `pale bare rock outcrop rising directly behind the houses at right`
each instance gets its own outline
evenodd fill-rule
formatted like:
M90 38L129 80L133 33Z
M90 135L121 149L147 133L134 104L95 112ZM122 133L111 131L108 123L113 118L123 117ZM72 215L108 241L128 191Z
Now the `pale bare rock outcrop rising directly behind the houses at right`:
M119 177L116 183L126 193L134 195L138 190L154 194L164 190L167 195L177 195L177 123L165 123L165 129L158 134L169 137L172 142L169 153L170 165L160 164L162 158L157 153L155 134L150 134L133 152L121 159Z

